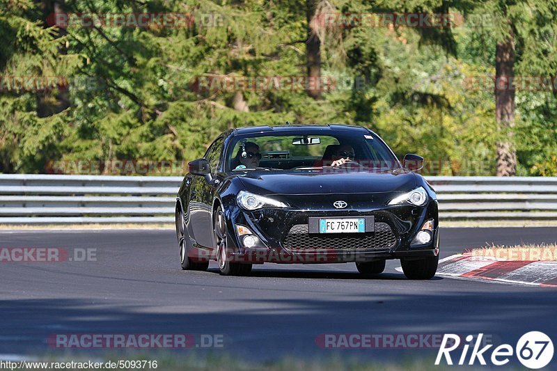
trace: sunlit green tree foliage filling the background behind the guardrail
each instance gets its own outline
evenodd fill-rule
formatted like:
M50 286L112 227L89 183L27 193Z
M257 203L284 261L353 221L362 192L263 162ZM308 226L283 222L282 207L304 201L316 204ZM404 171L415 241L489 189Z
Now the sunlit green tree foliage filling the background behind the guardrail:
M470 90L466 78L494 74L496 40L510 29L517 35L517 74L557 74L552 2L330 0L318 8L489 14L495 22L316 29L322 75L347 81L322 100L304 90L194 89L201 77L305 76L306 3L66 0L68 13L189 13L195 22L58 29L47 24L54 13L49 2L0 0L3 81L33 76L71 83L68 91L0 91L0 172L42 173L57 159L191 160L225 129L289 120L370 127L400 157L423 155L426 172L494 175L495 143L508 133L496 127L493 93ZM556 118L554 92L517 93L512 140L519 175L557 175Z

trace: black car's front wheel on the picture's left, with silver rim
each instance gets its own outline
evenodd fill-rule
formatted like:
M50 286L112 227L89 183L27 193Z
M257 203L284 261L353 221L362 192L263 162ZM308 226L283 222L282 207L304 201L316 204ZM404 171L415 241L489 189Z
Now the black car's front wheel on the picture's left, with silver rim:
M219 206L213 214L214 242L217 244L217 263L222 276L246 276L251 272L251 264L230 262L230 248L228 247L228 230L226 218Z

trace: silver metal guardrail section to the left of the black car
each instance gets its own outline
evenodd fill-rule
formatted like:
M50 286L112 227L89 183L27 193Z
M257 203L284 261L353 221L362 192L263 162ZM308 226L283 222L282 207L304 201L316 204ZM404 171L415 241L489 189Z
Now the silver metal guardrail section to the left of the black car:
M182 177L0 174L0 224L171 223Z

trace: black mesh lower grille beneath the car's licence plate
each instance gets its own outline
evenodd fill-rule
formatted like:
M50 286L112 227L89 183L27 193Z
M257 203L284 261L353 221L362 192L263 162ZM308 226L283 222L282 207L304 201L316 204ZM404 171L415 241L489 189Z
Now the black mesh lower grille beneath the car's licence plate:
M336 250L366 248L393 248L396 237L387 223L375 223L375 232L346 235L317 235L308 234L307 224L297 224L290 228L283 246L289 250L304 250L310 248L334 248Z

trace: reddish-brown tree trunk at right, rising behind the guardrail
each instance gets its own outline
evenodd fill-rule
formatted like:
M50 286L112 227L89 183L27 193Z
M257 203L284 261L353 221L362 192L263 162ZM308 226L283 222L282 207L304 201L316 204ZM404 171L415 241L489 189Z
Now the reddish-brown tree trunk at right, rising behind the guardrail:
M517 173L517 153L512 144L512 127L515 126L515 90L510 81L515 77L515 42L512 33L496 46L495 55L495 116L499 131L508 133L505 141L497 143L497 176Z

